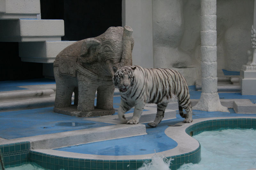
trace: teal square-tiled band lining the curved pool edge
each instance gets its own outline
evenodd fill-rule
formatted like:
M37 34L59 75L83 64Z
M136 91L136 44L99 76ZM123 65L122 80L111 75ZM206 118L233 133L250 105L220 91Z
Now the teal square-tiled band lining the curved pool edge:
M220 129L256 129L256 118L227 118L214 119L197 122L188 128L185 132L190 135L196 135L203 131ZM24 163L36 163L47 169L79 169L79 170L136 170L144 162L150 162L151 159L134 160L101 160L101 159L78 159L62 156L55 156L41 152L31 151L29 142L20 142L13 144L0 145L6 167L18 166ZM172 170L178 169L184 163L198 163L201 160L201 146L192 152L185 154L169 156L167 159L173 159L170 164Z

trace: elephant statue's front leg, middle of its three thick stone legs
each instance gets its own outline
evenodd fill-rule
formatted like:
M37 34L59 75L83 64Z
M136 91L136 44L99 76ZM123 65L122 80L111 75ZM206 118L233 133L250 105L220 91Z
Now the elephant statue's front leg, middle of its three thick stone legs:
M83 75L77 75L78 78L78 104L77 111L93 111L95 93L98 88L97 82L84 77Z

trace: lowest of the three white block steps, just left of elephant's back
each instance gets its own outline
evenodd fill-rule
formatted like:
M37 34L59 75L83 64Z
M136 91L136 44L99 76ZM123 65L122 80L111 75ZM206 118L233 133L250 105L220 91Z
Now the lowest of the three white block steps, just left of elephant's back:
M76 41L20 42L19 56L24 62L53 63L60 51L74 42Z

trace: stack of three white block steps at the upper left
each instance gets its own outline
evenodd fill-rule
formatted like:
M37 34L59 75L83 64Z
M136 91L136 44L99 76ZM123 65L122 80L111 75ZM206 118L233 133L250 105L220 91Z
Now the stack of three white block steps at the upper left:
M0 0L0 41L19 42L21 61L53 63L75 41L61 41L64 21L41 19L40 0Z

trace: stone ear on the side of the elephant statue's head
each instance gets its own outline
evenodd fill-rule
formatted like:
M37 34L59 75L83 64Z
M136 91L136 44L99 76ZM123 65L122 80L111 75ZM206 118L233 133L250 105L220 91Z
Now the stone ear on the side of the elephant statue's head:
M98 60L98 53L97 50L101 45L101 42L99 40L96 40L95 38L87 38L84 40L80 56L83 58L82 63L92 63Z

